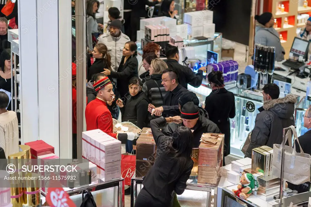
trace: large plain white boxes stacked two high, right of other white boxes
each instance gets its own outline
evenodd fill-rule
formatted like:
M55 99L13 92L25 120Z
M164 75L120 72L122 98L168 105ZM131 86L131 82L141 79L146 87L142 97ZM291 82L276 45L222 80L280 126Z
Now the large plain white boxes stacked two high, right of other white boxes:
M184 13L184 24L188 25L188 39L204 36L214 37L213 11L202 10Z

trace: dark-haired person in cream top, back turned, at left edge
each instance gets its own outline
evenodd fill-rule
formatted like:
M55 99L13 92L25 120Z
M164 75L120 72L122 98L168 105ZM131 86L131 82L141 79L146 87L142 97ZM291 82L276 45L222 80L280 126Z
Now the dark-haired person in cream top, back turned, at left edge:
M14 111L7 111L9 97L0 91L0 147L6 157L19 152L18 121Z

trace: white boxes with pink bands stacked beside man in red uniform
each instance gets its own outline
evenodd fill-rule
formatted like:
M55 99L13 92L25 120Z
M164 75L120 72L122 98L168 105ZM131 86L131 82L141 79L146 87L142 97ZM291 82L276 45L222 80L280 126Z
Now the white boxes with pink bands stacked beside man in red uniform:
M121 141L99 129L82 133L82 158L97 166L103 181L121 177Z

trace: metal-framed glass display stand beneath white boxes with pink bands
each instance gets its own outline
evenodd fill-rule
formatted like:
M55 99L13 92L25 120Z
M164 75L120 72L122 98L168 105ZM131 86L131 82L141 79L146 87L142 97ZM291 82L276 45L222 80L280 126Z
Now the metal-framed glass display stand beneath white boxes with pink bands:
M123 181L124 179L122 177L108 182L103 182L102 180L98 179L98 183L92 183L86 187L73 189L64 188L64 190L69 194L70 199L73 200L77 206L81 205L83 194L91 192L97 206L103 206L104 204L108 205L108 202L110 202L113 206L123 207ZM107 191L108 189L112 190L112 192ZM41 191L41 195L42 203L44 204L46 194Z

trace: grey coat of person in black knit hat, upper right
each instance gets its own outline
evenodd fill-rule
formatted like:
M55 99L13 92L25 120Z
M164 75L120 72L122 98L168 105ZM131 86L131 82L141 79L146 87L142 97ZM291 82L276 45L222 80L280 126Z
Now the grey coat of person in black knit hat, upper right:
M278 62L284 60L285 50L281 45L279 33L273 27L267 28L258 22L256 22L255 30L255 44L275 47L275 60Z

